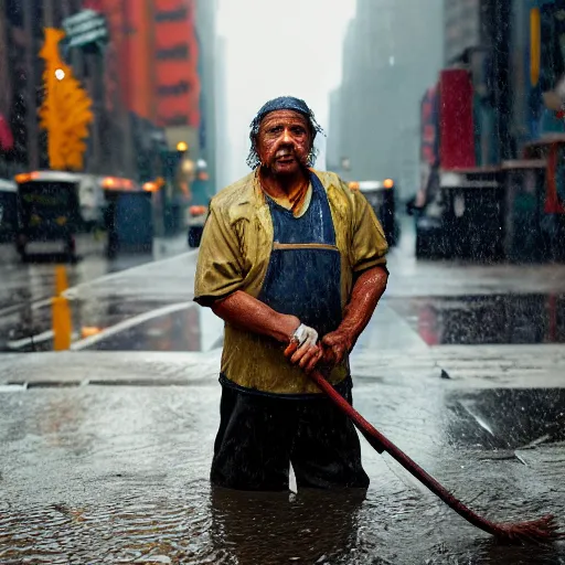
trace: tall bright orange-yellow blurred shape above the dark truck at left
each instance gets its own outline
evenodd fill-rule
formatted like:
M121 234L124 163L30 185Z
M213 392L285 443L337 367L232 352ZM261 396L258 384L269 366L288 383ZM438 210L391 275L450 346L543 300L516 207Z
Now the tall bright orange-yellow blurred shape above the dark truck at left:
M51 169L81 170L94 121L92 100L72 68L61 60L58 43L62 30L45 29L45 42L40 56L45 61L43 85L45 97L40 108L40 127L47 131L47 154Z

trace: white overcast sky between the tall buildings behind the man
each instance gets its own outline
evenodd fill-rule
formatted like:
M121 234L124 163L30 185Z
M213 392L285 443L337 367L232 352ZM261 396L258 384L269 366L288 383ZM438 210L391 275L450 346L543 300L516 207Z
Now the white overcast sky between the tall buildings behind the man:
M249 171L248 125L269 98L303 98L328 129L328 96L341 79L343 36L355 1L220 0L218 33L227 42L232 180Z

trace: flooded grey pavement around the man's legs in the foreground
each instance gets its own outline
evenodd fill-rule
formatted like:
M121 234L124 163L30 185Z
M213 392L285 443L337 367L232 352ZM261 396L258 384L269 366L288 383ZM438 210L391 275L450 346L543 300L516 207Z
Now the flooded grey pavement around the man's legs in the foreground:
M364 441L365 500L211 490L217 350L46 355L0 358L0 563L565 563L562 543L495 544ZM564 388L469 390L441 379L452 360L392 359L353 360L387 437L487 518L565 516Z

